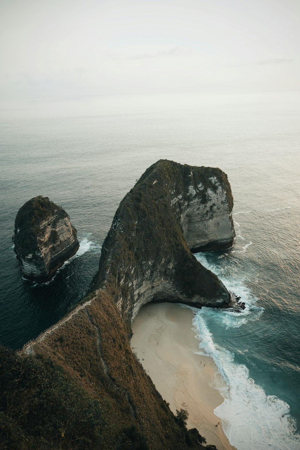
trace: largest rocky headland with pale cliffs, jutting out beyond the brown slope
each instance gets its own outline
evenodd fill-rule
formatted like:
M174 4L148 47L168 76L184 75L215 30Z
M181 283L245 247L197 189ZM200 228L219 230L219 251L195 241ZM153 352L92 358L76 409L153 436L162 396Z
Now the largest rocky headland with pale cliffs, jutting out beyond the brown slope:
M158 161L121 201L93 288L112 293L130 323L151 301L228 307L224 284L191 252L233 244L232 208L220 169Z

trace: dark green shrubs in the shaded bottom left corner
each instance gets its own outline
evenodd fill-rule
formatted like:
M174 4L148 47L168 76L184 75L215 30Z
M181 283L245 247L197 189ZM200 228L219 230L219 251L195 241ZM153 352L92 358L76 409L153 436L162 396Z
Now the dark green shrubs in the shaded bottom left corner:
M0 347L0 448L112 449L110 405L93 399L50 361Z

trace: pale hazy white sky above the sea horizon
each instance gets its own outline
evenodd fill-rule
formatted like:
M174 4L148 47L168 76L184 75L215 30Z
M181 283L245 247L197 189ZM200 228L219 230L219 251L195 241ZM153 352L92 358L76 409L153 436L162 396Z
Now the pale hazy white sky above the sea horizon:
M0 0L0 98L300 89L300 0Z

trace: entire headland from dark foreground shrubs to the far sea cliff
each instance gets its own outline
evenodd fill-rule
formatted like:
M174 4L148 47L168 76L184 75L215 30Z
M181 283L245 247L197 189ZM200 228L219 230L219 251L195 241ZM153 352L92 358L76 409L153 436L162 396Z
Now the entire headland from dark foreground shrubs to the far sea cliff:
M0 449L215 448L157 392L130 348L130 323L151 300L228 306L224 285L189 248L232 243L232 207L219 169L159 161L142 175L116 211L96 290L81 300L91 303L34 345L35 356L1 349ZM220 211L227 225L214 236Z

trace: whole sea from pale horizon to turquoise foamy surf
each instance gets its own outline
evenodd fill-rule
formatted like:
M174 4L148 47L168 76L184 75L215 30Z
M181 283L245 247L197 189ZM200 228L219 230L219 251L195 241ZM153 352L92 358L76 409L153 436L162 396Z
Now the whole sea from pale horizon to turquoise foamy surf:
M218 166L237 237L196 257L246 309L202 308L193 321L199 353L227 383L215 413L238 450L300 449L299 125L299 91L0 103L0 342L22 347L80 300L116 208L148 166ZM11 240L36 195L67 211L81 244L41 285L22 278Z

